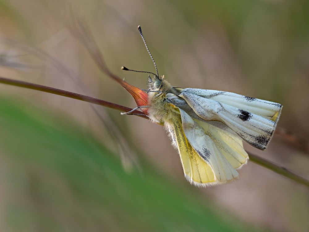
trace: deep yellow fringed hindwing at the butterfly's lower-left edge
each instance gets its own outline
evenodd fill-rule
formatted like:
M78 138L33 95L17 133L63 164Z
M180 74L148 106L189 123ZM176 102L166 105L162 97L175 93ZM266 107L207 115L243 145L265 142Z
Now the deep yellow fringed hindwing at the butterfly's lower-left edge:
M177 146L184 175L191 184L202 186L205 184L217 184L214 172L201 158L188 142L182 129L180 117L174 117L172 123L167 125L174 144Z

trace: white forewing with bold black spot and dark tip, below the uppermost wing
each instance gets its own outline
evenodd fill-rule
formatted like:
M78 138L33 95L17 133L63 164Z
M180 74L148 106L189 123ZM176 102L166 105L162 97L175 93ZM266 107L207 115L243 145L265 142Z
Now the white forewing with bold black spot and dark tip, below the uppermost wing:
M186 91L182 97L198 117L206 121L225 123L250 145L264 150L273 135L276 123L246 110L200 97Z

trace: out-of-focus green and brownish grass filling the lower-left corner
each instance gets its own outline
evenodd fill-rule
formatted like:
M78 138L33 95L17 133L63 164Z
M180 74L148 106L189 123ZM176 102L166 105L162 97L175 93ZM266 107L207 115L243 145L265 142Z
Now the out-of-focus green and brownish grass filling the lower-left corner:
M69 120L0 98L0 125L2 231L262 231L147 162L126 173Z

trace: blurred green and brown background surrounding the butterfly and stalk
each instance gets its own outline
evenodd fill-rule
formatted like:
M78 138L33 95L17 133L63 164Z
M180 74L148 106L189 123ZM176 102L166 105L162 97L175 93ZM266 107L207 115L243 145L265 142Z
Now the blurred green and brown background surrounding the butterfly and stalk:
M141 25L173 86L281 103L278 127L296 143L276 134L265 151L244 146L308 179L308 9L305 0L0 0L0 76L134 108L74 23L112 73L146 88L147 75L120 69L155 71ZM1 231L309 231L308 188L255 163L236 182L197 188L162 126L49 93L0 91Z

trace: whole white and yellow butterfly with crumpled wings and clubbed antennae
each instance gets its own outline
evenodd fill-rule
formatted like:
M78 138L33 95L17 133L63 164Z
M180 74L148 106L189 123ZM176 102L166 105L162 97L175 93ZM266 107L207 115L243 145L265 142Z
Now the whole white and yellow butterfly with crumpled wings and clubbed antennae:
M142 29L138 26L156 73L148 73L148 105L143 110L163 124L178 150L186 179L197 186L224 184L239 178L236 169L248 161L242 140L264 150L276 129L282 105L236 93L173 87L159 76Z

